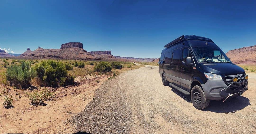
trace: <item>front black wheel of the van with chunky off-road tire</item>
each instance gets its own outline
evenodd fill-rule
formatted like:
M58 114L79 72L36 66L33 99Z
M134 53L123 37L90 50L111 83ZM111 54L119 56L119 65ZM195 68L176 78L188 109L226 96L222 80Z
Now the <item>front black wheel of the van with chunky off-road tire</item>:
M205 109L209 106L210 100L205 98L205 93L200 86L194 86L190 93L193 106L197 109Z

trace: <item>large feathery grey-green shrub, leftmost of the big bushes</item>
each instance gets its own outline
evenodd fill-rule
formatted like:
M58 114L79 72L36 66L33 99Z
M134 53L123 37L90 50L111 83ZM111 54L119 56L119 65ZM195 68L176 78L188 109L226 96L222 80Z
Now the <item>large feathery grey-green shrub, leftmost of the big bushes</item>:
M35 76L36 72L31 68L31 63L24 60L20 65L11 65L6 70L6 80L10 85L19 88L27 87Z

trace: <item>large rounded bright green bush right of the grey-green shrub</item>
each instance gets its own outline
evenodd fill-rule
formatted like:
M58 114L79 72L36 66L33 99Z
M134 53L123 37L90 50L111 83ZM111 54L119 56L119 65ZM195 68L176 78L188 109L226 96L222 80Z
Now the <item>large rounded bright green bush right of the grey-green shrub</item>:
M69 79L65 65L59 61L42 61L36 64L35 69L37 71L38 77L42 80L42 83L45 86L56 87L62 85L65 78ZM73 79L69 80L71 81Z

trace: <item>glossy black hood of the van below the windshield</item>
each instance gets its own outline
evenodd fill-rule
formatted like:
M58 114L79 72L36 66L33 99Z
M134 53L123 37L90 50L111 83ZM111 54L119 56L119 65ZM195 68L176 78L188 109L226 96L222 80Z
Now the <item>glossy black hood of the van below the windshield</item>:
M234 75L244 73L243 68L233 63L200 63L200 69L218 75Z

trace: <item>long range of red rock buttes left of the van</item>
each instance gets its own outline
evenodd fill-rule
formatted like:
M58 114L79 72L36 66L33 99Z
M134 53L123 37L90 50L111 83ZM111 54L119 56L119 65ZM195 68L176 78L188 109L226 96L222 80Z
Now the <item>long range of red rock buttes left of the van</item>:
M44 49L38 47L31 51L30 48L21 54L19 57L31 59L116 59L120 61L142 61L152 62L157 58L133 58L113 56L111 51L86 51L83 49L83 44L80 42L69 42L61 44L60 49Z

